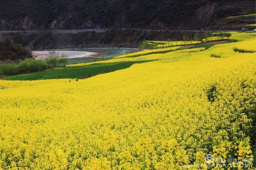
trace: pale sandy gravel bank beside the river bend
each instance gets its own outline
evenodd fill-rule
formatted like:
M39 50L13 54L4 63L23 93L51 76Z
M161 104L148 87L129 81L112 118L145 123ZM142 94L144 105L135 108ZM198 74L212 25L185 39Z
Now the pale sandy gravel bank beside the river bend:
M35 60L41 60L48 56L54 56L54 55L61 56L62 54L67 55L68 58L83 58L83 57L90 57L92 55L98 54L95 52L86 52L86 51L54 51L54 52L55 54L51 54L50 51L32 51L32 54Z

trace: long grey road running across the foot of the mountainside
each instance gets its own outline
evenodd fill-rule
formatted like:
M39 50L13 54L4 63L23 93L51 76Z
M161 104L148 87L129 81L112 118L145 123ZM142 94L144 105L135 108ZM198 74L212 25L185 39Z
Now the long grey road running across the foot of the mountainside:
M41 30L41 31L0 31L0 34L6 34L6 33L41 33L41 32L51 32L55 34L74 34L74 33L79 33L79 32L98 32L98 33L103 33L109 30L109 28L106 29L83 29L83 30ZM169 31L169 32L175 32L175 31L182 31L182 32L201 32L201 30L146 30L146 29L135 29L135 28L121 28L119 30L141 30L141 31ZM214 31L214 32L231 32L235 30L230 30L230 31ZM241 30L236 30L238 32L242 32ZM203 31L204 32L204 31ZM253 32L253 31L243 31L243 32Z

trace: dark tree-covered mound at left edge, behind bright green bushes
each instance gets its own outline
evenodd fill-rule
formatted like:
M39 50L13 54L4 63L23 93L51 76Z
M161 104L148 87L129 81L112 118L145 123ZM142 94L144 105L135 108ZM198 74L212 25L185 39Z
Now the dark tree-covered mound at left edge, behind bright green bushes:
M17 60L31 58L31 51L23 48L20 44L13 44L10 37L0 40L0 59L1 60Z

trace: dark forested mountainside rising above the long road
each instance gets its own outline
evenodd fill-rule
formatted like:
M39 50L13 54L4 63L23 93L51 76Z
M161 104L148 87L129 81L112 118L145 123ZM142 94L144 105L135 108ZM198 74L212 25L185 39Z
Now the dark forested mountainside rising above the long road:
M9 0L0 2L0 30L240 29L255 17L225 18L254 13L254 0Z

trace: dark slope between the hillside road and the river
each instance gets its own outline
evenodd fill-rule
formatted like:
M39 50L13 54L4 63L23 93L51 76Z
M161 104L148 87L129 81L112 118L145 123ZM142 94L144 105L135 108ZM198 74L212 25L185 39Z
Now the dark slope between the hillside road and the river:
M106 32L19 32L0 34L0 39L11 37L14 43L22 44L30 50L63 49L63 48L95 48L95 47L126 47L138 48L140 41L144 40L182 40L183 34L193 38L192 31L146 31L146 30L119 30L110 29ZM205 32L199 32L204 38Z

